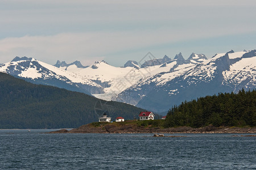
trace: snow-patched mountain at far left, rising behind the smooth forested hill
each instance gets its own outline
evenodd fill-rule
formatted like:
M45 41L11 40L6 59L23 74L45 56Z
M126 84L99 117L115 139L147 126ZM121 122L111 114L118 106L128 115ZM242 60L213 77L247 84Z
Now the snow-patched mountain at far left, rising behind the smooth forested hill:
M67 90L98 94L103 88L83 76L59 69L34 58L15 57L13 61L0 66L0 71L36 84L65 88Z

